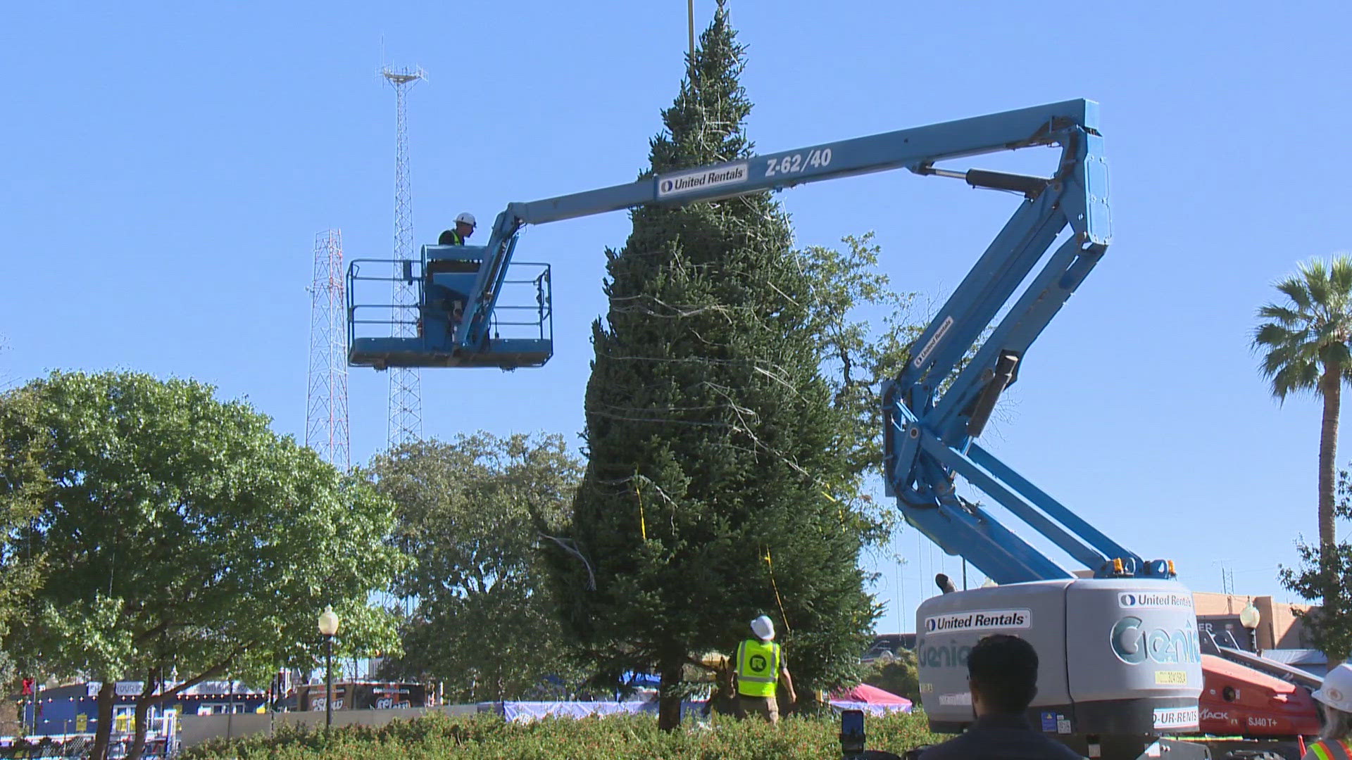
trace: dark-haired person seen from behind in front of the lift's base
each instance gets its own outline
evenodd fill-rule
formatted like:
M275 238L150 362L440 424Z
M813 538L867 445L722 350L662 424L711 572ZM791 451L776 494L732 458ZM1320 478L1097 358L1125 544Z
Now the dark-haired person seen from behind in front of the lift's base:
M1037 695L1037 652L1028 641L1005 634L982 638L967 656L967 686L976 722L963 736L926 749L921 760L1083 760L1025 717Z

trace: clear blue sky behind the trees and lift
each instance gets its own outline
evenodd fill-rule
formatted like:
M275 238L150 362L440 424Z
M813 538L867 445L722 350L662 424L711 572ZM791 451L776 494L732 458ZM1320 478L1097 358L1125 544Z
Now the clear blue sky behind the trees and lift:
M696 0L699 26L713 0ZM1315 531L1318 406L1271 400L1249 331L1272 280L1352 247L1341 3L733 0L758 149L1090 97L1115 239L1025 358L987 445L1195 590L1276 594ZM127 368L247 396L304 435L314 235L392 247L393 93L410 97L415 235L458 211L622 183L646 164L685 49L681 0L512 4L9 3L0 119L0 375ZM982 165L999 168L998 162ZM780 196L800 245L875 230L900 289L946 295L1011 200L906 173ZM544 369L423 373L427 435L576 440L610 214L526 233L554 270ZM384 375L350 376L352 448L384 446ZM1347 417L1347 415L1344 415ZM1340 456L1347 462L1352 454ZM894 609L941 561L914 531ZM898 588L900 583L900 591ZM909 621L900 623L910 627Z

